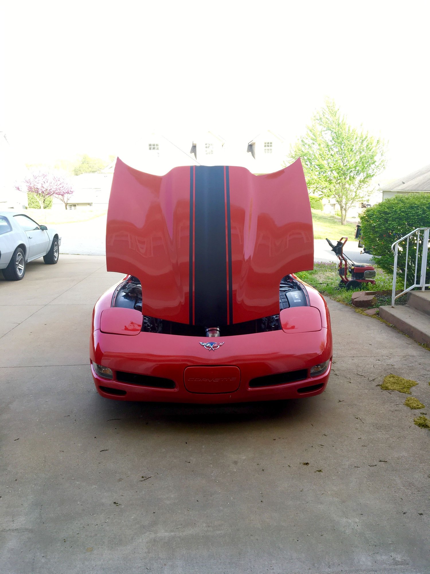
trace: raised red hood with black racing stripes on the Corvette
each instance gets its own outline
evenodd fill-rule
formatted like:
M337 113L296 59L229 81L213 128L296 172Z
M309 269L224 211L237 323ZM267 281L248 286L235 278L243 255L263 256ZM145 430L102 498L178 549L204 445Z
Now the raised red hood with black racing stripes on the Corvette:
M277 315L282 277L314 265L302 163L263 176L234 166L154 176L118 159L106 260L138 277L144 315L205 327Z

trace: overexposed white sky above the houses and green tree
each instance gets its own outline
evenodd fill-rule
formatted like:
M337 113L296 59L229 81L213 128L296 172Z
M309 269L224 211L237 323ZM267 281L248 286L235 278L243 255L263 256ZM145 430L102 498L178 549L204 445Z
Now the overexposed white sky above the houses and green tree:
M389 141L384 178L401 176L430 163L429 6L3 3L0 130L30 163L107 157L147 130L294 142L331 96Z

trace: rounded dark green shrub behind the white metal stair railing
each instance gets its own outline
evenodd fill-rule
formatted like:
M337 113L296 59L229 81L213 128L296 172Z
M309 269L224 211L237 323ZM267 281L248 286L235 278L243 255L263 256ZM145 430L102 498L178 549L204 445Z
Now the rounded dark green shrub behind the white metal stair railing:
M417 227L430 226L430 193L409 193L396 195L373 207L368 207L361 215L362 241L378 257L378 266L385 272L393 273L394 254L391 246L394 241ZM422 234L421 234L422 239ZM415 273L416 236L409 239L408 278L413 283ZM406 241L399 244L397 269L404 273L406 263ZM428 260L428 266L430 261ZM421 262L418 262L418 277ZM430 273L427 267L428 274ZM418 280L417 277L417 280Z

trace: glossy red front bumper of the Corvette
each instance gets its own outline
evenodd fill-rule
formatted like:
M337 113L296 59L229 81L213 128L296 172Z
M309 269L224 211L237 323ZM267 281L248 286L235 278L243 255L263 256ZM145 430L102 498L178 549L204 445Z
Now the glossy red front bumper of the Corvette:
M97 392L106 398L123 401L183 402L198 404L226 404L248 401L271 401L311 397L325 390L330 376L332 341L331 331L322 328L310 333L288 334L283 331L220 338L224 345L208 351L200 341L209 339L161 333L141 332L136 336L111 335L96 329L91 336L91 362L102 364L113 371L113 378L100 377L91 365ZM213 339L210 339L213 342ZM330 360L326 371L316 377L310 369L317 363ZM184 381L185 369L190 366L234 366L240 370L240 383L232 392L216 390L190 392ZM121 382L117 372L166 378L174 388L162 389ZM300 380L266 386L250 386L258 377L302 371Z

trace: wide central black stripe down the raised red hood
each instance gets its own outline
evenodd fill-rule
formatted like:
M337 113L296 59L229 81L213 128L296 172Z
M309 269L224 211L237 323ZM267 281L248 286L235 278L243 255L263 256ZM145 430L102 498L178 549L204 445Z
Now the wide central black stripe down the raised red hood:
M196 166L194 203L194 324L227 321L224 166Z

